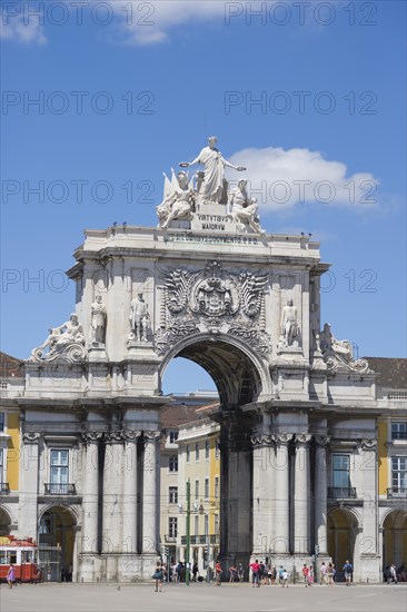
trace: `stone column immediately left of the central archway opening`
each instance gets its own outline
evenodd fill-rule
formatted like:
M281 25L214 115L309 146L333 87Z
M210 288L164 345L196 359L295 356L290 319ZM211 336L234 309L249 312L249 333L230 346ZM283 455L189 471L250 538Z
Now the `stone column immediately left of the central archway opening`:
M157 554L157 443L160 432L145 432L145 453L142 463L142 552Z

